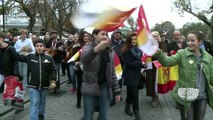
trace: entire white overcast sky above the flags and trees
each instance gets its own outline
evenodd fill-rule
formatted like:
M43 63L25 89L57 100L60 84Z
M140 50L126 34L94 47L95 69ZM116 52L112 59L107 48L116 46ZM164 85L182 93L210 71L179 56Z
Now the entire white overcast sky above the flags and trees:
M97 1L96 5L100 3L100 0L92 0L92 1ZM102 2L104 1L105 0L103 0ZM181 16L178 14L177 9L172 10L172 7L174 7L173 5L174 0L107 0L107 1L111 1L111 4L113 4L116 8L119 7L119 5L122 6L121 3L123 3L123 5L126 5L126 3L128 3L129 7L134 6L133 2L136 2L138 7L139 4L143 4L150 28L154 27L156 23L161 24L162 22L165 21L171 21L176 28L181 28L187 22L199 21L196 17L192 16L191 14L184 13ZM195 2L193 1L193 3ZM211 0L196 0L195 4L201 7L201 9L204 9L206 7L209 7L209 5L211 5ZM101 7L101 5L99 7ZM135 20L137 19L138 9L133 13L132 16L135 18Z

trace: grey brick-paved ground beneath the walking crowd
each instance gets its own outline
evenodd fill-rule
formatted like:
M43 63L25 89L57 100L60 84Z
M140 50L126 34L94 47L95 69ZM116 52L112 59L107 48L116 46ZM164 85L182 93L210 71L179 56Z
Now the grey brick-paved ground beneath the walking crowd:
M67 78L64 77L63 79ZM83 115L83 108L76 109L76 94L69 94L67 92L70 86L70 84L63 84L60 95L48 95L45 120L80 120ZM122 92L122 97L126 98L125 88ZM179 112L175 109L175 104L170 94L159 95L160 105L157 108L151 107L150 100L151 98L145 96L145 90L140 90L140 112L143 120L180 120ZM121 101L110 108L109 120L134 120L133 117L129 117L124 113L124 104L125 101ZM96 118L96 116L97 113L95 113L94 118ZM212 118L213 112L208 108L205 120L212 120ZM0 120L28 119L29 102L25 104L24 111L18 114L11 111L0 116Z

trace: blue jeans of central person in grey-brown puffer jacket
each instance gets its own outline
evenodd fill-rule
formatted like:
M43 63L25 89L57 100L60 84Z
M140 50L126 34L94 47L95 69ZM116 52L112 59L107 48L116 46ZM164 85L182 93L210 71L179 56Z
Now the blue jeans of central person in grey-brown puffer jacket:
M100 96L83 95L84 116L82 120L92 120L97 106L99 107L100 120L107 120L110 99L109 88L106 85L100 87Z

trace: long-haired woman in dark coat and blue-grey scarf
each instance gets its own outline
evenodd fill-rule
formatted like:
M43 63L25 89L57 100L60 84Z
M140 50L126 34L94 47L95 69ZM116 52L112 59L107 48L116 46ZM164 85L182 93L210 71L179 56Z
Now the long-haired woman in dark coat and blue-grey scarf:
M138 93L139 81L141 78L141 69L146 65L141 61L142 51L137 48L136 34L130 34L122 48L123 53L123 78L126 85L127 98L125 113L129 116L135 116L135 120L140 120ZM133 107L133 113L130 107Z

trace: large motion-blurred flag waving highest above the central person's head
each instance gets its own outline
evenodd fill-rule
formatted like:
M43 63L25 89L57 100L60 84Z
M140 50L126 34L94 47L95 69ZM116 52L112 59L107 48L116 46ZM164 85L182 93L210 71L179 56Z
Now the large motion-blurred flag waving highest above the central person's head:
M120 4L115 4L120 2ZM131 2L131 4L129 4ZM99 4L101 3L101 4ZM71 18L77 28L93 27L108 32L118 29L133 13L137 4L131 0L89 0ZM137 2L138 3L138 2ZM120 6L120 7L119 7Z

